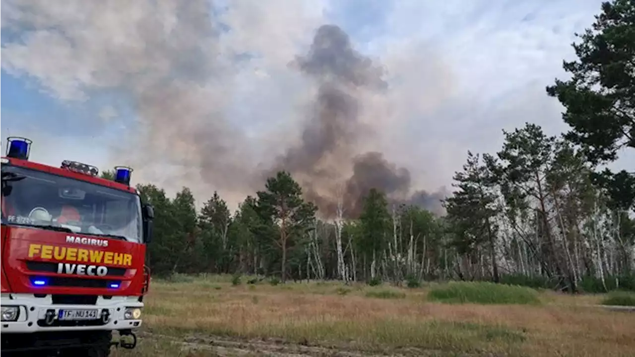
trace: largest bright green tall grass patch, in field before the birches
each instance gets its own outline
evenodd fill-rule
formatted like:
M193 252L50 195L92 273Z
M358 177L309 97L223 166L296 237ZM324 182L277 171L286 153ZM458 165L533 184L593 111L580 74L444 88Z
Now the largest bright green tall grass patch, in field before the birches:
M524 286L485 282L452 282L439 285L428 299L448 304L540 304L538 292Z

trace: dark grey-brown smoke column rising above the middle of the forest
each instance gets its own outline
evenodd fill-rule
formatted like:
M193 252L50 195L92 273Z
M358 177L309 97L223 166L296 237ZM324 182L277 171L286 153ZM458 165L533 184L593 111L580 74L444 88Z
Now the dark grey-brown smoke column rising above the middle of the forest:
M408 198L411 177L406 168L390 163L381 152L359 152L359 144L375 134L361 120L363 93L388 89L382 66L354 50L348 34L336 25L319 27L309 53L293 65L316 81L318 91L301 144L288 149L269 173L290 171L324 217L335 215L340 200L345 217L358 217L371 188L384 191L395 203L436 207L439 194L419 191Z

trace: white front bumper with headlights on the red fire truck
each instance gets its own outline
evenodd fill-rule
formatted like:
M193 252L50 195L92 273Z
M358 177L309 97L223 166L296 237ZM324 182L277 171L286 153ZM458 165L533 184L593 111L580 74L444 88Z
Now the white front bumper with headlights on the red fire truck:
M142 320L126 320L126 308L142 309L144 304L137 297L99 297L95 305L53 304L48 297L35 297L32 294L2 294L0 306L19 306L20 315L17 321L0 321L0 333L34 333L53 331L82 330L134 330L139 328ZM97 309L101 314L107 311L108 319L89 321L60 321L57 319L60 309ZM47 311L54 311L53 321L46 319Z

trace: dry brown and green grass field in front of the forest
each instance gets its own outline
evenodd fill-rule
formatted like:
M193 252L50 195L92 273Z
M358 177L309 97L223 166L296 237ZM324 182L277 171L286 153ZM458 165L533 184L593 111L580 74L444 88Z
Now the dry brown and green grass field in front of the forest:
M592 307L605 298L487 283L155 280L140 347L113 356L634 356L635 315Z

